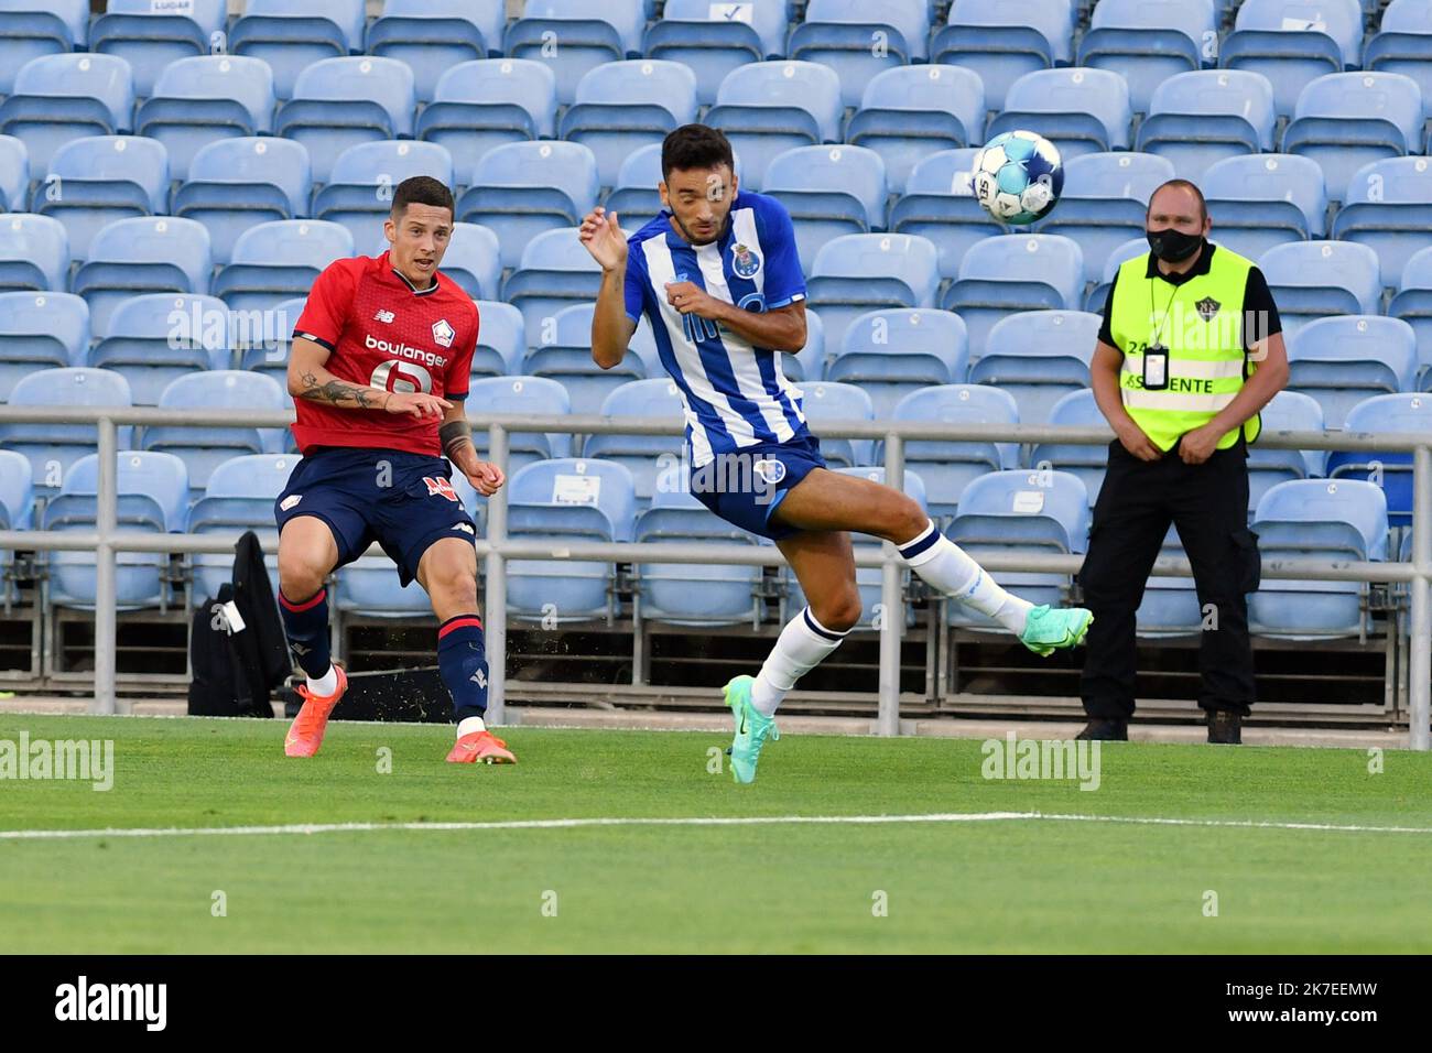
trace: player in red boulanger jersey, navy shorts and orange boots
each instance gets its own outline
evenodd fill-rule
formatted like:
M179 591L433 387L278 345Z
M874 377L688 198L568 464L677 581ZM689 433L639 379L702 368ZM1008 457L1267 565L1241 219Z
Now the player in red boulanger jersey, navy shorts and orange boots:
M458 722L447 759L513 764L483 723L477 532L448 464L484 497L503 486L497 466L478 458L464 413L477 305L438 272L453 192L428 176L398 183L384 234L391 248L382 255L328 265L294 330L288 390L304 460L274 514L279 610L308 683L284 752L316 754L348 688L329 655L324 582L377 540L402 586L417 580L427 590L440 622L438 665Z

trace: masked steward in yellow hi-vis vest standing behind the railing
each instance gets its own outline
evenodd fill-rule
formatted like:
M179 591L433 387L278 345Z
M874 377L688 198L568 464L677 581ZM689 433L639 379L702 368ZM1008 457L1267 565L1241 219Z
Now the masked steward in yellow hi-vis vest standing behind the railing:
M1094 615L1080 738L1128 738L1138 632L1197 636L1209 742L1239 742L1254 701L1247 593L1262 557L1247 444L1287 383L1287 350L1263 272L1210 242L1211 228L1197 186L1160 186L1144 219L1150 252L1116 271L1104 305L1090 387L1116 438L1077 579ZM1146 593L1170 526L1193 589L1164 579Z

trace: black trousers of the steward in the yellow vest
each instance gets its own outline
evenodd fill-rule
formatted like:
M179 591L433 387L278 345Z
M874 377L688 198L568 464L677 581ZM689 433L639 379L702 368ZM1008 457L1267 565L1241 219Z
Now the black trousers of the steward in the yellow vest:
M1091 718L1128 719L1134 712L1134 612L1170 521L1189 554L1204 612L1199 705L1249 713L1253 645L1246 593L1257 589L1260 557L1257 537L1247 529L1247 504L1242 440L1203 464L1184 464L1177 447L1161 460L1141 461L1118 440L1110 444L1078 573L1084 606L1094 612L1080 685Z

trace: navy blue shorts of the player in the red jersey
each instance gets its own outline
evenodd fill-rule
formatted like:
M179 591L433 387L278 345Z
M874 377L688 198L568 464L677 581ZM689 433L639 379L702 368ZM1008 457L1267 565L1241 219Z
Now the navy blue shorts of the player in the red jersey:
M453 490L451 471L444 457L318 447L288 477L274 501L274 517L279 532L298 516L324 520L338 543L338 566L352 563L378 542L407 587L434 542L477 540L477 527Z

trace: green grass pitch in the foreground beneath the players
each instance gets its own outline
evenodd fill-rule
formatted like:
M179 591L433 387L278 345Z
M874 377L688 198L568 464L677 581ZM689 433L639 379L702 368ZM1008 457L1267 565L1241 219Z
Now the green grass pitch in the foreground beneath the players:
M1403 827L978 822L0 837L0 951L1432 951L1432 756L1106 744L1097 791L981 775L977 741L0 715L115 741L113 789L0 781L0 831L1041 812ZM385 758L391 758L391 771ZM1419 832L1419 831L1426 832ZM222 905L222 911L218 907ZM1216 915L1211 907L1216 905ZM216 917L216 913L222 914Z

